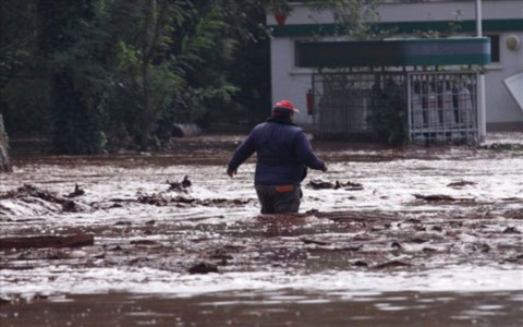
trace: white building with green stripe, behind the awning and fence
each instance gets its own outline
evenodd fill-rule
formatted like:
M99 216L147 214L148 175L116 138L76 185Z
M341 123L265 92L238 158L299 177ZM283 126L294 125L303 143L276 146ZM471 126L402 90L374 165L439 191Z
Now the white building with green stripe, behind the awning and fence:
M523 0L483 0L483 31L491 39L491 63L486 74L487 131L523 131L523 82L512 77L523 72ZM418 31L445 33L449 26L458 26L458 35L474 36L475 0L385 1L378 7L378 28L394 28L398 34ZM304 4L293 4L284 23L278 24L268 14L267 24L272 28L271 83L272 102L290 99L305 109L306 94L312 87L312 68L300 66L296 44L314 39L333 39L335 15L330 11L312 11ZM339 38L340 36L336 36ZM508 87L504 83L510 80ZM296 117L299 123L308 125L311 116Z

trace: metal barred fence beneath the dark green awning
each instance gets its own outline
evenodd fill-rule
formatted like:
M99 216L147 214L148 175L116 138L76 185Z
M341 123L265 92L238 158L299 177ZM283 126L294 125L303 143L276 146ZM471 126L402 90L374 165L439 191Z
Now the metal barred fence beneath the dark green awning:
M375 140L380 124L403 117L412 142L475 143L476 82L474 72L313 74L315 136Z

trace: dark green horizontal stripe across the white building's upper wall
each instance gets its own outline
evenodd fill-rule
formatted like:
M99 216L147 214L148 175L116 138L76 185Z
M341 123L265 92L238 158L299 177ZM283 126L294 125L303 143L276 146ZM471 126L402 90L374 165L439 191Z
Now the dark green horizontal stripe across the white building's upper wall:
M423 21L423 22L381 22L374 23L376 31L394 33L414 33L414 32L450 32L474 33L476 31L475 21ZM272 29L272 36L328 36L343 35L346 33L346 26L340 24L293 24L293 25L269 25ZM453 28L457 29L453 29ZM483 20L483 29L489 32L523 31L523 19L511 20Z

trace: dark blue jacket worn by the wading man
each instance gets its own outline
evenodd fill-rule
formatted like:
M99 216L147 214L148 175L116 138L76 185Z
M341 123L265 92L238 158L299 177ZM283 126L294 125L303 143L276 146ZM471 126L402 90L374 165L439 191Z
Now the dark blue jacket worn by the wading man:
M303 130L289 120L271 117L256 125L236 148L229 169L236 170L256 152L256 185L300 185L307 168L324 170Z

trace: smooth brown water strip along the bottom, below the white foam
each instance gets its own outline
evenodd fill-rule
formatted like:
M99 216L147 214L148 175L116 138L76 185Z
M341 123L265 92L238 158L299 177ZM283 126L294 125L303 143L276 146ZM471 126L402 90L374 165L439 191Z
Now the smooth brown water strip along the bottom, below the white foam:
M521 326L523 293L109 293L0 306L2 326Z

